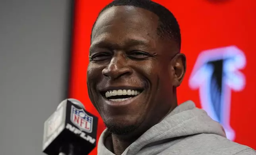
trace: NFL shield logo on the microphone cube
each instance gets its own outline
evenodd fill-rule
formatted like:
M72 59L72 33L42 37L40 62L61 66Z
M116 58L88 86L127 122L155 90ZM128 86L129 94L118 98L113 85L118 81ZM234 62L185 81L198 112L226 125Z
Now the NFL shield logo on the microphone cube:
M93 117L87 115L83 109L77 109L72 105L70 119L80 130L88 133L92 132Z

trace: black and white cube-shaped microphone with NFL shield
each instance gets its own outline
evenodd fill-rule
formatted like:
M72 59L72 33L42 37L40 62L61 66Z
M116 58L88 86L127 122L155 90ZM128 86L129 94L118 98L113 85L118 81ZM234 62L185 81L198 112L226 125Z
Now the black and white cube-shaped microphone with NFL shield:
M47 155L87 155L96 146L98 118L76 99L63 100L45 121L43 152Z

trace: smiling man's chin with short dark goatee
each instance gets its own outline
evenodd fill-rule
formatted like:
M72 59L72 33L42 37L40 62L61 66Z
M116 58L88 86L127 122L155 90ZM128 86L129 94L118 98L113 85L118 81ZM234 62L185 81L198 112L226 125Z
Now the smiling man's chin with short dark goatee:
M116 135L127 135L138 128L136 125L121 125L116 123L105 123L105 126L109 132Z

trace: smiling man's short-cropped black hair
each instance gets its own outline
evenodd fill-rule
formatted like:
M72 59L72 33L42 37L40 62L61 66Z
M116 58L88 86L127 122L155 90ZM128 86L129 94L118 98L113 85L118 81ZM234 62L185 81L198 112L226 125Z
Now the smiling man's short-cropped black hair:
M178 25L178 21L174 17L173 13L171 13L171 11L169 11L164 6L161 6L160 4L157 4L151 0L114 0L99 12L97 19L104 10L111 8L112 6L134 6L155 13L159 17L159 26L157 28L158 35L161 36L161 38L167 37L174 40L176 43L178 43L180 48L180 26ZM95 23L97 22L97 19ZM95 23L93 24L93 28ZM91 38L93 28L91 30Z

